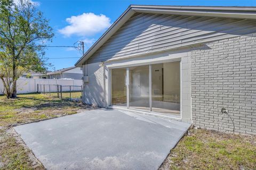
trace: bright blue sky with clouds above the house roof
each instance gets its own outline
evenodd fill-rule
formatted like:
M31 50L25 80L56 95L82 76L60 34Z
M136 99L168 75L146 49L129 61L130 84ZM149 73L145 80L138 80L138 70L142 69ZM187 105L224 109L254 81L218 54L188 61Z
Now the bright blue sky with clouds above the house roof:
M15 0L17 1L17 0ZM32 1L32 0L30 0ZM49 46L74 46L83 41L85 52L127 9L134 5L199 5L199 6L256 6L256 0L179 0L179 1L60 1L34 0L45 18L50 20L54 37ZM75 44L77 45L77 44ZM47 62L53 71L72 67L82 56L82 51L73 47L49 47L45 50ZM61 59L56 59L61 58Z

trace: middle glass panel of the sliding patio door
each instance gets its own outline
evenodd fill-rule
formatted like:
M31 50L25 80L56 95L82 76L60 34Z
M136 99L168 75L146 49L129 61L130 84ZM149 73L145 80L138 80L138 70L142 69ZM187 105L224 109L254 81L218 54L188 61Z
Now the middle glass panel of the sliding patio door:
M129 67L129 106L149 110L149 65Z

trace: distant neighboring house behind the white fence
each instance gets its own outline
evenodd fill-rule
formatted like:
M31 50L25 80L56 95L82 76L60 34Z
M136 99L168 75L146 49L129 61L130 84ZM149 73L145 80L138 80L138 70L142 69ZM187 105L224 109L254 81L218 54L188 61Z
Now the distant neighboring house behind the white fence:
M68 67L60 70L48 72L47 78L49 79L82 79L83 71L80 67Z

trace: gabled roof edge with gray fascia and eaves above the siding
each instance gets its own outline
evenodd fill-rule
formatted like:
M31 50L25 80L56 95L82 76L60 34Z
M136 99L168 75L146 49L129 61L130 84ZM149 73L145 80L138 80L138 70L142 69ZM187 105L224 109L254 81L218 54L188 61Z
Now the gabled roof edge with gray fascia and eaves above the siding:
M76 62L76 67L93 55L135 13L177 14L202 17L221 17L256 20L255 6L159 6L130 5L108 30Z

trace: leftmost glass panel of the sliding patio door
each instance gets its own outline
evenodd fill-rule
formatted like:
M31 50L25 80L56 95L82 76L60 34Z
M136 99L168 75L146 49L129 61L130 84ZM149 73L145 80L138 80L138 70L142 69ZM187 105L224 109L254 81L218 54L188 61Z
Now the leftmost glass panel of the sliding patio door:
M126 68L111 69L111 104L127 106Z

